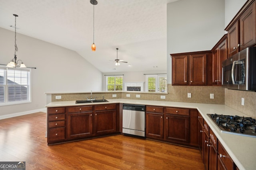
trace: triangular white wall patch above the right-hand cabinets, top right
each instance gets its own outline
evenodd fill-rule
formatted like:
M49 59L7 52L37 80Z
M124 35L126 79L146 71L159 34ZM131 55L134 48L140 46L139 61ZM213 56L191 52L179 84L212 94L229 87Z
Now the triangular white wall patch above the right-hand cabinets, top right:
M245 4L246 0L225 0L225 27Z

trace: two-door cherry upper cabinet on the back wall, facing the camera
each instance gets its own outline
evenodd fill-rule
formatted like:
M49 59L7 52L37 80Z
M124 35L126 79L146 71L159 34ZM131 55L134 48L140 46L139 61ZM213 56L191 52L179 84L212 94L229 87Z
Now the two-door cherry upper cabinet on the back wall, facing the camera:
M211 51L171 54L172 85L207 85L207 66Z

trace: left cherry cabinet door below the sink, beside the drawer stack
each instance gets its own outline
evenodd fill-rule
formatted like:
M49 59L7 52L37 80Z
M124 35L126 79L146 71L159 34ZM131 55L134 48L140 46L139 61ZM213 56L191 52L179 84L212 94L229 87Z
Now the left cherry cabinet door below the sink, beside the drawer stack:
M68 113L68 139L92 135L92 112Z

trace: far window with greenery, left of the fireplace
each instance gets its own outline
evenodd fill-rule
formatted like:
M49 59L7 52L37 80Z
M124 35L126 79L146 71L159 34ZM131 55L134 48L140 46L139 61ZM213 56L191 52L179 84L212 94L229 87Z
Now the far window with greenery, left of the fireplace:
M107 76L107 91L122 91L123 76Z

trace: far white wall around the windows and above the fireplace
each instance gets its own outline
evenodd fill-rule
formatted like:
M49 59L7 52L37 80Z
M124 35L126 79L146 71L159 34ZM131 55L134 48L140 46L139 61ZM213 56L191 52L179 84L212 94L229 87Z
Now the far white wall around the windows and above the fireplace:
M104 75L122 75L123 82L146 82L144 74L166 74L166 70L152 70L152 71L137 71L137 72L106 72L102 77L102 91L106 91L106 76ZM145 86L145 84L144 84ZM145 89L145 87L144 87Z

